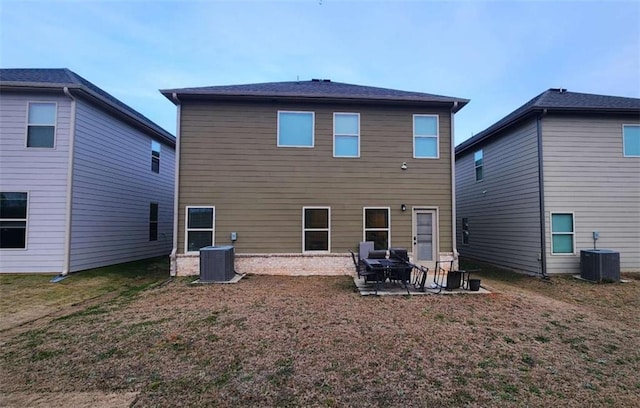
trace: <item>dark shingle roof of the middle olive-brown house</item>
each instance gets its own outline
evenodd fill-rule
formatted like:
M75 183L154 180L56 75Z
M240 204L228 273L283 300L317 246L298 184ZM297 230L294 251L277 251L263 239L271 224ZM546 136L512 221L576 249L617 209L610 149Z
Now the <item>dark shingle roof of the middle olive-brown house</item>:
M400 91L397 89L377 88L312 79L310 81L268 82L246 85L206 86L199 88L163 89L160 92L173 101L172 94L178 97L198 96L207 98L295 98L325 100L369 100L387 102L445 103L457 102L456 111L469 100L422 92Z

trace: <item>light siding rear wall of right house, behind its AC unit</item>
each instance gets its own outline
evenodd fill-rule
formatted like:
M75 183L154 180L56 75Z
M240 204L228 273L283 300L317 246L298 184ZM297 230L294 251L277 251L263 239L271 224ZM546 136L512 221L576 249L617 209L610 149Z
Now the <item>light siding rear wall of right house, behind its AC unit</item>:
M635 117L543 119L545 222L549 273L578 273L580 250L620 252L623 271L640 271L640 158L623 157L622 124ZM551 212L575 213L576 253L550 255Z

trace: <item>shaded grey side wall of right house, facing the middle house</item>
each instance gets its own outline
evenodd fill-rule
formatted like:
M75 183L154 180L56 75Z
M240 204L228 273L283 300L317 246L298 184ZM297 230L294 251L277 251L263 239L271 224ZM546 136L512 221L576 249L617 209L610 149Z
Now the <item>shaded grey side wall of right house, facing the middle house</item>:
M540 195L535 119L494 137L456 160L456 236L462 256L539 273ZM484 178L475 180L474 152L484 153ZM469 243L462 243L462 218Z

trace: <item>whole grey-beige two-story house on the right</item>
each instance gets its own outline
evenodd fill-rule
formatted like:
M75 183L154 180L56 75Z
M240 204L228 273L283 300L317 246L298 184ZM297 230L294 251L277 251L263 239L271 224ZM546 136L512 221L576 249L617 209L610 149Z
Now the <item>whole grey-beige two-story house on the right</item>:
M580 250L640 270L640 99L549 89L456 147L461 256L579 273Z

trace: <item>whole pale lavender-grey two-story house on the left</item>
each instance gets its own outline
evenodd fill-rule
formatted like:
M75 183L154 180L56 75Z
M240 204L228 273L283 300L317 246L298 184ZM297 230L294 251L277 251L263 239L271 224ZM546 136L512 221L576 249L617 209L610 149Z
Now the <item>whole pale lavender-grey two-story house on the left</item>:
M169 255L175 138L68 69L0 70L0 272Z

